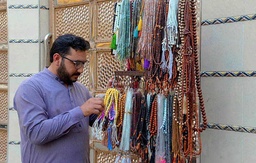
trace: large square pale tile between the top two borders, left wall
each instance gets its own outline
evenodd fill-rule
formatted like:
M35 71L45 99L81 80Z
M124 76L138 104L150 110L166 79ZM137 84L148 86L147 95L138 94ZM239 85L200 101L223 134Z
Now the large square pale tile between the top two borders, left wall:
M38 40L38 9L8 9L9 40Z

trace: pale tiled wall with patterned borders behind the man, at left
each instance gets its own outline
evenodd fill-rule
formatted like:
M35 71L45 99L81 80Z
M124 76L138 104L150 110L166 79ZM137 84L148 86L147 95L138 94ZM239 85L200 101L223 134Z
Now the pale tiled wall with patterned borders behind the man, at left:
M13 97L26 78L44 68L44 36L49 33L48 0L8 0L9 123L8 163L21 162L20 128Z

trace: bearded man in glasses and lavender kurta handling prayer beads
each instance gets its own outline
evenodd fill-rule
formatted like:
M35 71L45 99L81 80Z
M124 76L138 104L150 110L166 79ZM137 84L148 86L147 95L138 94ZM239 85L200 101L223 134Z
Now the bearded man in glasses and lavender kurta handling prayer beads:
M104 104L76 82L89 63L89 48L81 37L58 37L50 51L50 67L20 84L13 107L19 117L23 163L90 162L89 125ZM108 88L111 82L113 78Z

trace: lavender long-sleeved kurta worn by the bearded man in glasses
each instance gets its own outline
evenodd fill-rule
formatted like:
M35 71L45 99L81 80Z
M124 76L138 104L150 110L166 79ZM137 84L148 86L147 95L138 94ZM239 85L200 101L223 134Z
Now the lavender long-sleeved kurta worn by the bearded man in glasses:
M91 94L79 82L64 85L47 68L23 81L13 100L23 163L89 163L89 125L80 108ZM63 133L65 130L70 129Z

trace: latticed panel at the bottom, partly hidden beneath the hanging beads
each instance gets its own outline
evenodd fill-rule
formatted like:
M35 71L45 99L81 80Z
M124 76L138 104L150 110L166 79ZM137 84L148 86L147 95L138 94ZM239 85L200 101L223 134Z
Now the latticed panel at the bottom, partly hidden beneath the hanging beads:
M111 153L106 150L95 149L94 163L114 163L116 157L116 152ZM139 162L137 156L132 155L131 158L133 163ZM119 160L118 163L121 163L121 160Z

